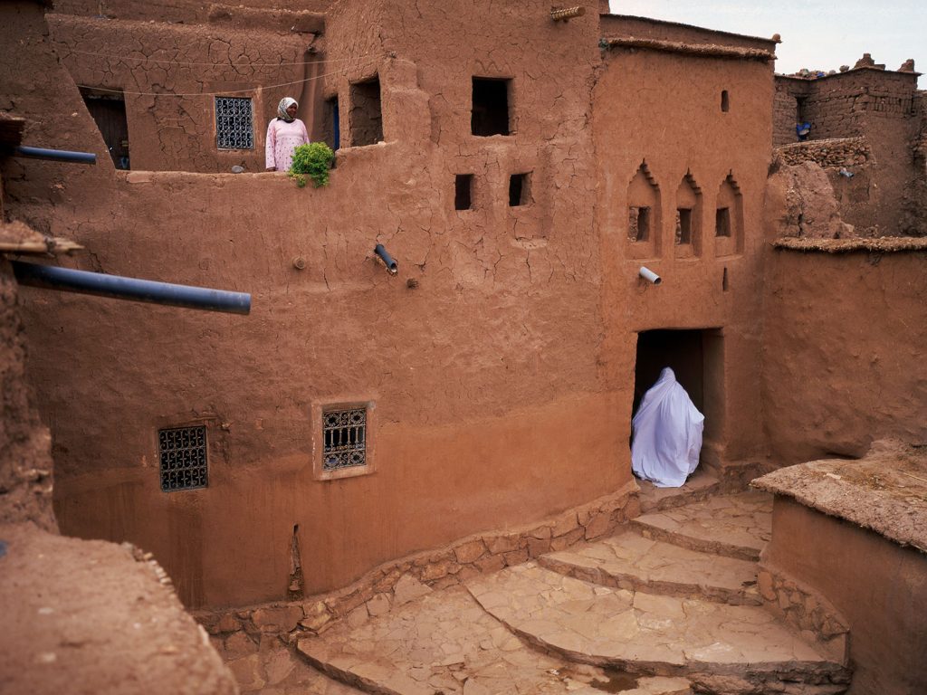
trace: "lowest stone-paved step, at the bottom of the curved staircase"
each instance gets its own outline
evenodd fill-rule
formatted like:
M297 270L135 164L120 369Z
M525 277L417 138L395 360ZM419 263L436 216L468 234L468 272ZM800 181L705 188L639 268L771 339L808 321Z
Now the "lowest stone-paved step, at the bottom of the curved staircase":
M377 695L690 695L682 676L631 676L531 648L462 587L388 613L352 613L298 654L324 674Z

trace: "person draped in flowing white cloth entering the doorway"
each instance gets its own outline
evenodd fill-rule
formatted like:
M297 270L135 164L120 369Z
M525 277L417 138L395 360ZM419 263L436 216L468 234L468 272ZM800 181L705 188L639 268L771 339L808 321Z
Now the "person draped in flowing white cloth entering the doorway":
M648 389L634 420L631 469L657 487L679 487L698 466L705 415L669 367Z

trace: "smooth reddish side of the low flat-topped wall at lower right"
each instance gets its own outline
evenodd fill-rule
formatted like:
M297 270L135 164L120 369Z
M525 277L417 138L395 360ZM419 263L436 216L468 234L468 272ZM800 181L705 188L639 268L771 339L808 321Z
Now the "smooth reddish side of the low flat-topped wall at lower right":
M780 496L765 558L819 590L849 622L850 693L927 690L924 553Z

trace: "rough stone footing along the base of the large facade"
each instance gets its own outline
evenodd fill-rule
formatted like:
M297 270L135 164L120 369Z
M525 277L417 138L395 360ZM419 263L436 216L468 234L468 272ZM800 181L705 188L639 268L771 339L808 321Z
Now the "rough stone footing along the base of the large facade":
M540 524L465 537L438 550L387 562L349 587L303 600L278 601L224 611L196 612L213 645L229 662L250 658L269 639L294 644L321 634L338 620L362 623L440 588L476 575L527 562L547 552L614 534L641 513L632 481L617 493L596 499ZM234 664L230 664L234 665ZM235 670L235 669L233 669Z

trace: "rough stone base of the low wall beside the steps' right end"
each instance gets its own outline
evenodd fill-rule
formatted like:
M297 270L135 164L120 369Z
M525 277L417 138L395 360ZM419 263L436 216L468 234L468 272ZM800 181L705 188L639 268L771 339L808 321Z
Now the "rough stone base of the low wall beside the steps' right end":
M789 625L811 633L830 652L828 655L832 659L844 665L848 662L850 628L830 601L813 588L762 562L756 581L768 610Z

